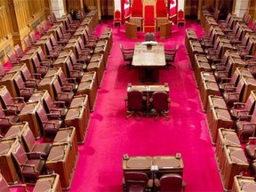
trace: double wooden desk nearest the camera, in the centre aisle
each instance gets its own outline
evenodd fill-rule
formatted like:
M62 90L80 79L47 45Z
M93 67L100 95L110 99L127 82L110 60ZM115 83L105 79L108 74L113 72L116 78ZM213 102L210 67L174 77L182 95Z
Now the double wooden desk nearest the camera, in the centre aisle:
M152 171L151 165L156 165L157 170ZM183 168L182 158L176 156L129 156L129 159L123 159L123 172L145 172L151 179L153 173L159 177L167 173L182 175Z

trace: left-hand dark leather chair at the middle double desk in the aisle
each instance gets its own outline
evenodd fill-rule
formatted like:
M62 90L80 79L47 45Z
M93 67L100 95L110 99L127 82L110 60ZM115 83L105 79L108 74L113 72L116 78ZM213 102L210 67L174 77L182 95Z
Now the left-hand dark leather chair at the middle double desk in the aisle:
M146 98L143 96L142 92L136 90L127 92L127 97L124 99L125 108L127 108L126 119L134 115L140 120L138 113L143 110L143 100L146 100Z

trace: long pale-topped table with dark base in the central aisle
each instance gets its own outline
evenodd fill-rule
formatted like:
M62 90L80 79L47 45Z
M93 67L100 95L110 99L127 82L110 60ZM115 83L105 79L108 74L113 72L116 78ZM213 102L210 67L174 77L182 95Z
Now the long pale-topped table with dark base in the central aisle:
M132 67L139 69L140 82L158 82L159 68L164 68L164 44L158 43L156 46L136 43L132 58Z

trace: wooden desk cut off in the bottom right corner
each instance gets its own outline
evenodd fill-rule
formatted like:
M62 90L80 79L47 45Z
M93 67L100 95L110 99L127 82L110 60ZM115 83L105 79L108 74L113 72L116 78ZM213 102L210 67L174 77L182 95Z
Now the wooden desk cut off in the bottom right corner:
M252 192L256 191L256 182L253 177L236 175L231 192Z

